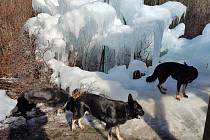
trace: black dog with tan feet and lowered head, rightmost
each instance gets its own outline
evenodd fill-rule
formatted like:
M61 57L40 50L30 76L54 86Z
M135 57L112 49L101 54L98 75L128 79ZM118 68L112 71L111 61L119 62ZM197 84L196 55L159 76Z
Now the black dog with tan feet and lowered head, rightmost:
M180 88L182 86L182 93L185 98L188 96L185 93L186 87L188 83L191 83L198 77L198 71L193 66L188 66L186 63L179 64L176 62L165 62L159 64L153 74L146 78L147 82L153 82L157 78L159 80L159 84L157 85L158 89L162 94L166 94L166 88L164 88L163 84L167 80L167 78L171 76L173 79L177 80L177 92L176 99L180 100Z

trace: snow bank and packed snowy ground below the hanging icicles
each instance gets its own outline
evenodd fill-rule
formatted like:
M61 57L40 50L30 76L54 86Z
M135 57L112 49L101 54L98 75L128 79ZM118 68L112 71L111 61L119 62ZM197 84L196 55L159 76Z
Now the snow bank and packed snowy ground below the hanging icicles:
M176 81L171 78L165 84L168 89L166 95L160 94L157 81L146 83L146 76L138 80L132 79L131 72L135 69L140 69L147 75L153 69L146 68L144 63L137 60L131 63L129 69L119 66L111 69L109 74L67 67L56 60L51 60L50 64L55 73L60 72L60 79L53 79L61 82L64 89L68 86L71 90L84 88L95 94L105 94L123 101L127 101L128 94L132 93L146 114L143 120L132 120L124 124L121 127L124 135L143 139L202 139L210 95L209 73L199 73L199 77L187 88L189 98L177 101Z

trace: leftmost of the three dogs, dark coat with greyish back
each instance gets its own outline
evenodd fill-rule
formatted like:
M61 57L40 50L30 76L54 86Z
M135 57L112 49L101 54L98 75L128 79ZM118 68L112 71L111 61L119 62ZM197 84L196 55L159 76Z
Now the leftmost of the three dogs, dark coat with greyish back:
M46 103L48 106L61 107L64 106L67 100L68 94L59 88L32 89L18 97L17 104L11 111L11 115L21 115L26 118L26 113L35 108L37 103Z

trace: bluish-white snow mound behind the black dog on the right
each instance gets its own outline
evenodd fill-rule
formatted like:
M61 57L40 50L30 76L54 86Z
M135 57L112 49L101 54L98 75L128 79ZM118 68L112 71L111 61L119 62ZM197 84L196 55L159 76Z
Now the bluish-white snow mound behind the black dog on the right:
M207 27L208 28L208 27ZM204 29L206 30L206 28ZM165 34L166 35L166 34ZM187 62L195 66L199 72L210 72L209 67L209 43L208 36L199 35L191 40L177 38L174 34L168 33L165 37L165 49L168 53L160 58L164 61Z

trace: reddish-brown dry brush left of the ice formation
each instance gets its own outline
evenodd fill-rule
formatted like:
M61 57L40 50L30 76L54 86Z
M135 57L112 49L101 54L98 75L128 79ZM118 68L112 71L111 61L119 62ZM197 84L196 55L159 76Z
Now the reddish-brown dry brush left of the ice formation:
M43 63L35 60L35 39L22 30L32 15L31 0L0 2L0 77L18 78L17 86L11 86L18 92L49 82L40 79L40 73L44 76L49 73L41 71Z

